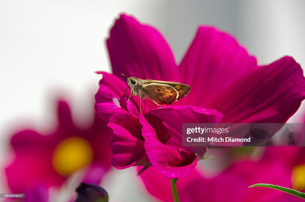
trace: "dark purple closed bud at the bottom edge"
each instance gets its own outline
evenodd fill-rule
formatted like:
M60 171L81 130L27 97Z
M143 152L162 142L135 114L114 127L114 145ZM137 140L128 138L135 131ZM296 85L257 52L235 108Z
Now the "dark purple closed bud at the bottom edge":
M74 202L108 202L108 193L100 186L81 183L75 189L78 193Z

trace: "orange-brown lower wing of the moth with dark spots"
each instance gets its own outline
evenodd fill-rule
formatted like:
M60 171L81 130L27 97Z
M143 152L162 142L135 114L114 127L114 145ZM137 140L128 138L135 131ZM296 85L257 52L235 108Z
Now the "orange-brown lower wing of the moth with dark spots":
M149 99L159 104L172 104L179 96L178 91L167 84L150 83L144 85L144 88Z

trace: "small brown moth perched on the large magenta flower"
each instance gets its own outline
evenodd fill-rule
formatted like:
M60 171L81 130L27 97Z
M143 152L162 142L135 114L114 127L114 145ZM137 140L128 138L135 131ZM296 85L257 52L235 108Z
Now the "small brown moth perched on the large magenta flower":
M140 98L140 113L141 112L141 99L150 99L152 102L159 106L160 104L171 105L174 101L185 97L191 90L189 85L181 84L178 82L170 81L157 81L157 80L144 80L136 77L127 77L127 85L130 88L130 94Z

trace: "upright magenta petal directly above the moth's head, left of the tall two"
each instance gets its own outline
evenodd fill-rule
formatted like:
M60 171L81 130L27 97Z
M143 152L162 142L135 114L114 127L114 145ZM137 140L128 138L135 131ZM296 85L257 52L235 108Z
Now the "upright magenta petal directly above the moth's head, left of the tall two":
M115 21L107 47L115 75L165 81L178 78L174 56L163 36L131 16L122 14Z

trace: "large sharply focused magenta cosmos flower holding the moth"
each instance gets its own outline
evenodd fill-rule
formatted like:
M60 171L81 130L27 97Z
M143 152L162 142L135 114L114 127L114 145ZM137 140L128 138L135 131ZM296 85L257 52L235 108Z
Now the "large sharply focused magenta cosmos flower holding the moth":
M152 164L168 178L186 176L206 148L182 146L182 123L284 123L305 96L303 71L292 57L258 66L232 36L214 27L199 27L180 65L155 28L124 14L107 47L113 74L99 72L95 109L114 130L112 164L118 169ZM142 112L148 113L139 115L138 97L126 103L122 96L127 82L120 72L181 82L191 91L172 106L147 100Z

